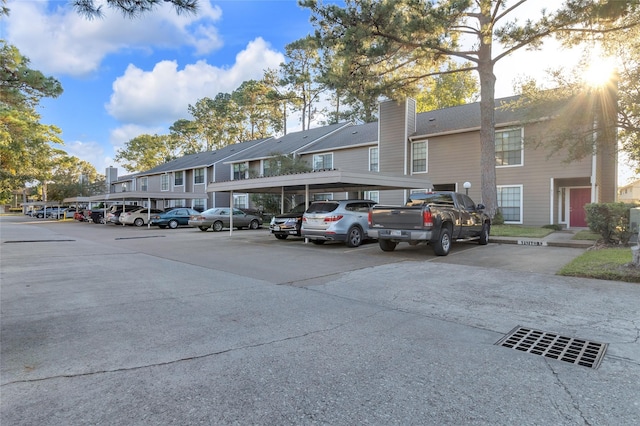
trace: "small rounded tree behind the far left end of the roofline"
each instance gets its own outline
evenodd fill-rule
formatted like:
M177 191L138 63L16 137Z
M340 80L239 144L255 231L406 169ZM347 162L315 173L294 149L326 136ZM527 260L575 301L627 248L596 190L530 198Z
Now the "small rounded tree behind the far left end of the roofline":
M129 172L152 169L178 158L177 140L170 135L140 135L116 152L115 160Z

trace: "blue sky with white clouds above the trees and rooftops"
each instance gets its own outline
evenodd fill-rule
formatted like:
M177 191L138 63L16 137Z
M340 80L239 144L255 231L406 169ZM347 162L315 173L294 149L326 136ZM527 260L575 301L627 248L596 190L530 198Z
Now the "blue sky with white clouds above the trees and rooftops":
M521 8L522 19L554 4L530 1ZM119 167L114 157L129 140L168 133L176 120L192 118L190 104L260 79L284 61L287 44L313 33L309 10L296 0L199 5L195 16L177 15L162 2L138 19L104 8L104 17L88 20L68 0L8 0L0 39L28 57L32 69L62 83L60 97L41 101L41 122L62 130L61 148L68 154L104 173ZM545 70L570 67L578 59L579 52L553 42L537 52L518 52L495 67L496 97L515 94L517 79L544 78ZM288 127L295 131L300 124ZM119 175L127 173L119 167ZM620 183L629 174L624 170Z

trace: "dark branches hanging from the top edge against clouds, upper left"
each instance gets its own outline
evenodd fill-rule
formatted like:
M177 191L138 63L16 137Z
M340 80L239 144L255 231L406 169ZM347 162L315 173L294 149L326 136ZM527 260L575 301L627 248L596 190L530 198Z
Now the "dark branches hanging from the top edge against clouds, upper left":
M198 0L71 0L76 11L90 19L103 16L105 2L108 8L131 18L150 12L162 3L171 3L178 15L198 11Z

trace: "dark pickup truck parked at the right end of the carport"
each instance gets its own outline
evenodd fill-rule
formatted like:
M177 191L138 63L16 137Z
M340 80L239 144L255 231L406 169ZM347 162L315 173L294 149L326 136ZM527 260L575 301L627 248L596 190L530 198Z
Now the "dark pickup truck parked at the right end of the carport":
M377 204L369 210L370 238L383 251L400 242L430 244L438 256L446 256L453 241L489 242L491 219L484 205L458 192L414 193L404 206Z

